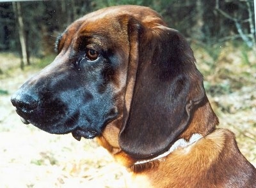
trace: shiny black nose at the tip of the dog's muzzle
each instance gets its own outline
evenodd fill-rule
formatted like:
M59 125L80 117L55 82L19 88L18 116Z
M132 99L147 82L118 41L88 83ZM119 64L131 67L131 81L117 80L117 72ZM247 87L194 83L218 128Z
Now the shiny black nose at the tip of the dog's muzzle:
M38 98L35 94L20 90L13 94L11 101L13 106L24 113L29 113L38 106Z

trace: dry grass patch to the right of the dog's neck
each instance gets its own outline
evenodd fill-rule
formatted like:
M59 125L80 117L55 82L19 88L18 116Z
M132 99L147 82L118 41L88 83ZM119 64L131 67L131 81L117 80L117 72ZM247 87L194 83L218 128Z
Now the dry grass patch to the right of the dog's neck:
M236 134L237 144L256 166L256 56L246 47L227 44L216 58L205 48L196 48L198 68L204 75L205 89L220 127ZM209 55L210 54L210 55Z

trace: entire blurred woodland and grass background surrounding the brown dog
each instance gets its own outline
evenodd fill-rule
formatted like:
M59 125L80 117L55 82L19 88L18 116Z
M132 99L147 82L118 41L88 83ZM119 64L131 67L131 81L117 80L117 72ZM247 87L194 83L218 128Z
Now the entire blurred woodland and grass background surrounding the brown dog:
M125 187L125 171L93 140L44 133L20 122L10 96L56 56L54 42L79 17L117 4L158 11L194 50L220 127L236 134L256 166L253 0L0 1L1 187Z

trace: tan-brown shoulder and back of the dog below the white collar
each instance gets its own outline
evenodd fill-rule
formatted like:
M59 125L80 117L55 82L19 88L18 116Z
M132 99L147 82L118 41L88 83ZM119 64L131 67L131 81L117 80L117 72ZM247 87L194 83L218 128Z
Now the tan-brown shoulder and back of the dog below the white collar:
M255 173L248 173L252 167L244 163L246 159L235 144L234 134L216 129L196 144L176 150L157 168L139 175L147 177L152 187L255 187ZM234 176L232 181L227 179L230 175Z

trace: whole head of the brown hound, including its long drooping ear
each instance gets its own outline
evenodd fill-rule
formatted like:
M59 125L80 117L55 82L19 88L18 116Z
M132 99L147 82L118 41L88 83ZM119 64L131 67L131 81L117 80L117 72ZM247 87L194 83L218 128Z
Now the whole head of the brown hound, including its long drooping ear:
M175 141L207 101L188 43L149 8L90 13L68 26L56 49L12 96L23 122L49 133L94 138L116 122L120 147L147 158Z

